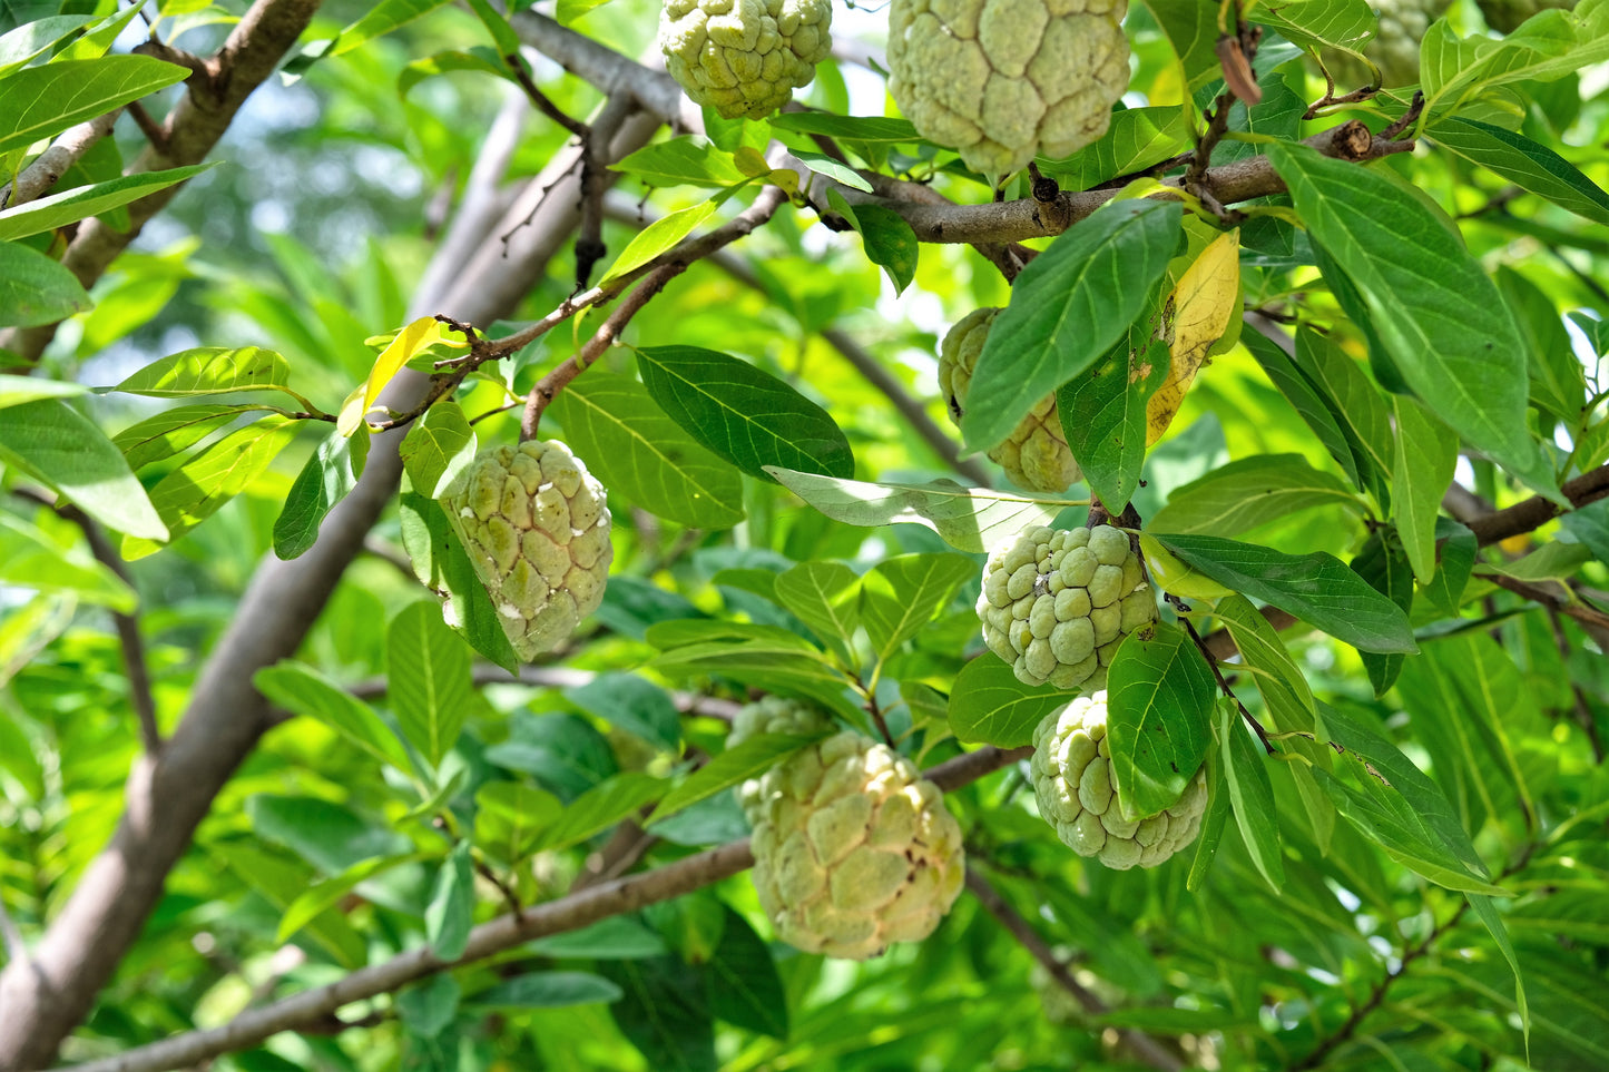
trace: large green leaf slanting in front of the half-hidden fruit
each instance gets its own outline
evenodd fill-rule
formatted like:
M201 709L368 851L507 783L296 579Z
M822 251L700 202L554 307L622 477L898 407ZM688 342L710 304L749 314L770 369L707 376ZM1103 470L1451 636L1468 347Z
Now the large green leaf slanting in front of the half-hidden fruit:
M1146 307L1179 240L1176 201L1109 201L1022 270L990 327L961 418L994 447L1046 394L1110 351Z

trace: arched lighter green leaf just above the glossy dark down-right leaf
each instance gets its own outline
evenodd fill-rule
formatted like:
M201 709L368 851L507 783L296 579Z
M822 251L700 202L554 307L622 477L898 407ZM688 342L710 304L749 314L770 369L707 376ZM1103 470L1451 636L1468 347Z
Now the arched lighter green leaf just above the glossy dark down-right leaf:
M1258 454L1175 488L1168 505L1152 515L1149 528L1239 536L1297 510L1323 505L1363 510L1347 484L1313 468L1300 454Z

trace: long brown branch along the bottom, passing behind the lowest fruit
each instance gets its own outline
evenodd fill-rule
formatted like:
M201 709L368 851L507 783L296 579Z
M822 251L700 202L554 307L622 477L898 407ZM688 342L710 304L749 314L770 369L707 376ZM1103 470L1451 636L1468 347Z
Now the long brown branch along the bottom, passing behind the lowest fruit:
M940 789L959 789L1001 766L1023 758L1031 748L1001 750L985 747L940 763L927 777ZM755 864L748 839L727 842L676 863L644 871L624 879L611 879L521 913L505 913L470 932L468 946L457 961L442 961L430 946L409 950L383 964L360 967L327 987L315 987L275 1001L261 1009L241 1012L224 1027L188 1032L174 1038L138 1046L116 1058L71 1066L72 1072L161 1072L183 1069L224 1053L254 1046L269 1035L325 1022L346 1004L362 1001L459 964L471 964L533 938L565 930L578 930L610 916L632 913L658 901L703 889L740 874ZM61 1072L66 1072L63 1069Z

